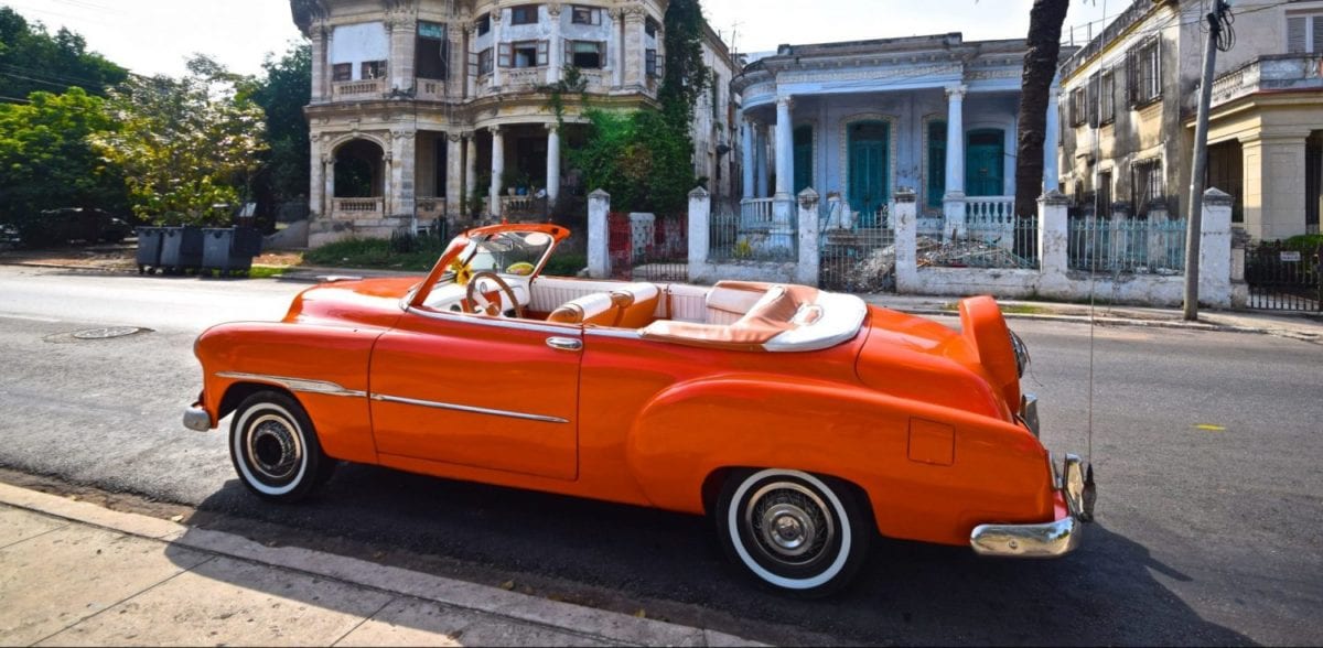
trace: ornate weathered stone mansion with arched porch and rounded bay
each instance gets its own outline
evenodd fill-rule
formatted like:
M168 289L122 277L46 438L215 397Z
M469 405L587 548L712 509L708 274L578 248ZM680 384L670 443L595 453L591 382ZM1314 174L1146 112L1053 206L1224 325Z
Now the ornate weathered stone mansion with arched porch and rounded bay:
M586 131L578 93L561 98L562 118L552 108L570 67L595 107L656 104L667 0L290 4L312 40L312 246L438 218L546 213L582 194L561 164ZM710 65L729 78L730 56L708 34ZM696 169L716 176L718 151L734 145L729 110L705 110Z

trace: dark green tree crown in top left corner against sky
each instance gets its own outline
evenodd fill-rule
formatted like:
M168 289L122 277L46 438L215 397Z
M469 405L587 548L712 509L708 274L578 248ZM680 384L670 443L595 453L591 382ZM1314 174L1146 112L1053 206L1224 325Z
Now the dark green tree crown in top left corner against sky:
M70 86L102 95L128 73L87 52L82 36L61 28L54 36L41 22L28 22L0 7L0 98L20 101L36 91L61 93Z

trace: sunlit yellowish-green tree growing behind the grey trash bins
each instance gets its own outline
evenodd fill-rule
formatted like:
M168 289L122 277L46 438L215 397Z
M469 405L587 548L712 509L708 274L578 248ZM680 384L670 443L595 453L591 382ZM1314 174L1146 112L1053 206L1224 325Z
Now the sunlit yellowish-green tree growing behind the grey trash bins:
M134 213L164 225L225 220L216 205L237 205L257 169L262 108L235 95L238 77L206 57L189 74L131 78L111 90L118 131L93 139L122 165Z

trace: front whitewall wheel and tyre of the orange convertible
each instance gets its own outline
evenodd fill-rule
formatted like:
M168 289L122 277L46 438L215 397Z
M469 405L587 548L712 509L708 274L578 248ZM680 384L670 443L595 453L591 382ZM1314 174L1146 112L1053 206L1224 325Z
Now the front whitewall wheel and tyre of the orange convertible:
M258 391L239 403L230 423L230 459L249 491L282 503L307 497L336 466L303 406L279 391Z

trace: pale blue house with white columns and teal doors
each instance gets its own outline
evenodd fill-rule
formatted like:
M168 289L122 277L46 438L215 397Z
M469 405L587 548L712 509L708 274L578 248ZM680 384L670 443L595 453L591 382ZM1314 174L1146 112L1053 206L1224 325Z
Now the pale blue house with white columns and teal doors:
M958 220L968 202L1008 212L1024 53L1023 40L959 33L782 45L733 83L744 101L744 198L785 202L812 186L869 214L910 188L922 210Z

